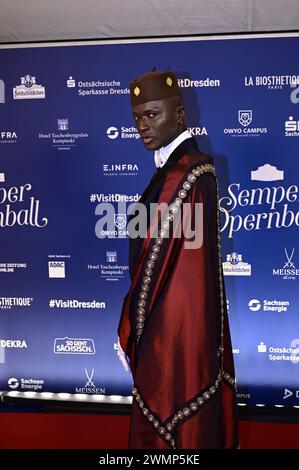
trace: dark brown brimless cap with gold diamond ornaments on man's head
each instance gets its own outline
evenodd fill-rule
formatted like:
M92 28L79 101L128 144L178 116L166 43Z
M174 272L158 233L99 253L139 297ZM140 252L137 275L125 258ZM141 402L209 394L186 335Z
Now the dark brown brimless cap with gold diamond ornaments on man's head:
M181 97L177 77L173 72L147 72L130 82L131 105L163 100L171 96Z

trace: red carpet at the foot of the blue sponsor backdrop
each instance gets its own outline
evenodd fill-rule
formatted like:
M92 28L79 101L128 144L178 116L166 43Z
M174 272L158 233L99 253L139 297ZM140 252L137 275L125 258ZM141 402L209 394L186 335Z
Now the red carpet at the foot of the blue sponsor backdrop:
M125 449L129 417L1 413L1 449ZM299 424L240 421L243 449L299 449Z

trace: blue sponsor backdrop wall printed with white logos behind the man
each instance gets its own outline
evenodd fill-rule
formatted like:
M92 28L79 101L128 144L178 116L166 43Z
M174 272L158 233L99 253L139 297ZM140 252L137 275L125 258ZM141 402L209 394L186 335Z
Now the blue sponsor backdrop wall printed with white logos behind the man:
M156 66L178 73L215 158L239 402L299 403L298 47L277 35L0 49L0 389L130 394L116 333L126 214L155 167L128 83Z

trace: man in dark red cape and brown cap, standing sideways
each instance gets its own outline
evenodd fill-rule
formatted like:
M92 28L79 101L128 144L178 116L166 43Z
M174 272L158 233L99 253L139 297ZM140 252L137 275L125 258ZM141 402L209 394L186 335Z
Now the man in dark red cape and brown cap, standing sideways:
M148 72L130 83L130 91L136 127L145 147L155 151L158 169L139 201L147 209L147 230L145 237L130 239L132 285L118 328L134 381L129 447L236 448L213 160L186 129L173 72ZM149 216L154 203L167 204L166 215ZM175 236L174 226L187 205L187 222L202 236L189 246L184 231Z

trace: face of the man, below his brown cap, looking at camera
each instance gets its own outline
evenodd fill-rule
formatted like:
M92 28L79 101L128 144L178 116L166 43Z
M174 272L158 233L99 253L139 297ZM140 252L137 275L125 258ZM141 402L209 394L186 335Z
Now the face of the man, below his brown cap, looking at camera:
M157 150L175 139L178 121L184 119L183 106L176 97L138 104L133 106L132 111L147 150Z

